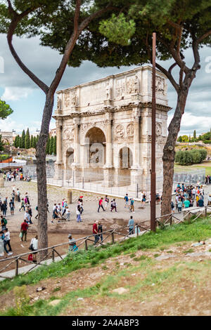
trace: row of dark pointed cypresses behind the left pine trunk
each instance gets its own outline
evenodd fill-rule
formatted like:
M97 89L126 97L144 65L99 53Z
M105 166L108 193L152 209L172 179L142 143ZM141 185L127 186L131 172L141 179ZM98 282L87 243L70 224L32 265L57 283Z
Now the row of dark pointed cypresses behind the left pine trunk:
M21 136L15 136L14 146L20 149L30 149L36 148L37 142L39 140L39 135L37 136L30 136L30 130L27 128L27 132L23 130ZM1 141L0 141L1 143ZM46 154L56 154L56 136L49 136L47 145L46 145Z

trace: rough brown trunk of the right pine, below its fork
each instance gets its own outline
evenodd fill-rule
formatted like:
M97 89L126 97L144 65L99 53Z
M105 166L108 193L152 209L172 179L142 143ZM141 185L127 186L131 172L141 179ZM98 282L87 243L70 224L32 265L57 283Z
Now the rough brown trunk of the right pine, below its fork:
M163 149L163 186L162 186L162 206L161 215L172 213L172 187L174 179L174 157L177 136L180 131L181 117L184 114L188 88L180 90L177 94L177 107L174 112L174 117L168 127L168 137Z

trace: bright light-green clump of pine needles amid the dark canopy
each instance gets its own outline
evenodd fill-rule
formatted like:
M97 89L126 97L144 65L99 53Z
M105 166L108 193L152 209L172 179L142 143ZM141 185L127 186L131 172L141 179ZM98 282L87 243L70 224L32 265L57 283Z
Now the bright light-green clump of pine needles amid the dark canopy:
M123 13L119 16L112 14L110 19L100 22L99 31L111 42L127 46L131 43L130 38L136 31L136 25L133 20L127 21Z

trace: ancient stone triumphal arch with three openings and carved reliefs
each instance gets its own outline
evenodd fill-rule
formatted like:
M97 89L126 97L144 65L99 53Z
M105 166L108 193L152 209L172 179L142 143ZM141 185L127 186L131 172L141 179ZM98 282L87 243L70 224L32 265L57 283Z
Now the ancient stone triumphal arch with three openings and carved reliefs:
M146 190L151 169L152 67L58 91L55 178ZM167 78L156 72L156 173L167 137Z

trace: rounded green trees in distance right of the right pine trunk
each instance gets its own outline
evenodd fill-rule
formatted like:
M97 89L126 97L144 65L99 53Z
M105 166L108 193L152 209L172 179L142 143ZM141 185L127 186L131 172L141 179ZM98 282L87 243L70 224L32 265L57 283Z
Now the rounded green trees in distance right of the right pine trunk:
M175 155L175 163L179 165L191 165L199 164L207 157L207 150L205 149L194 149L177 151Z

